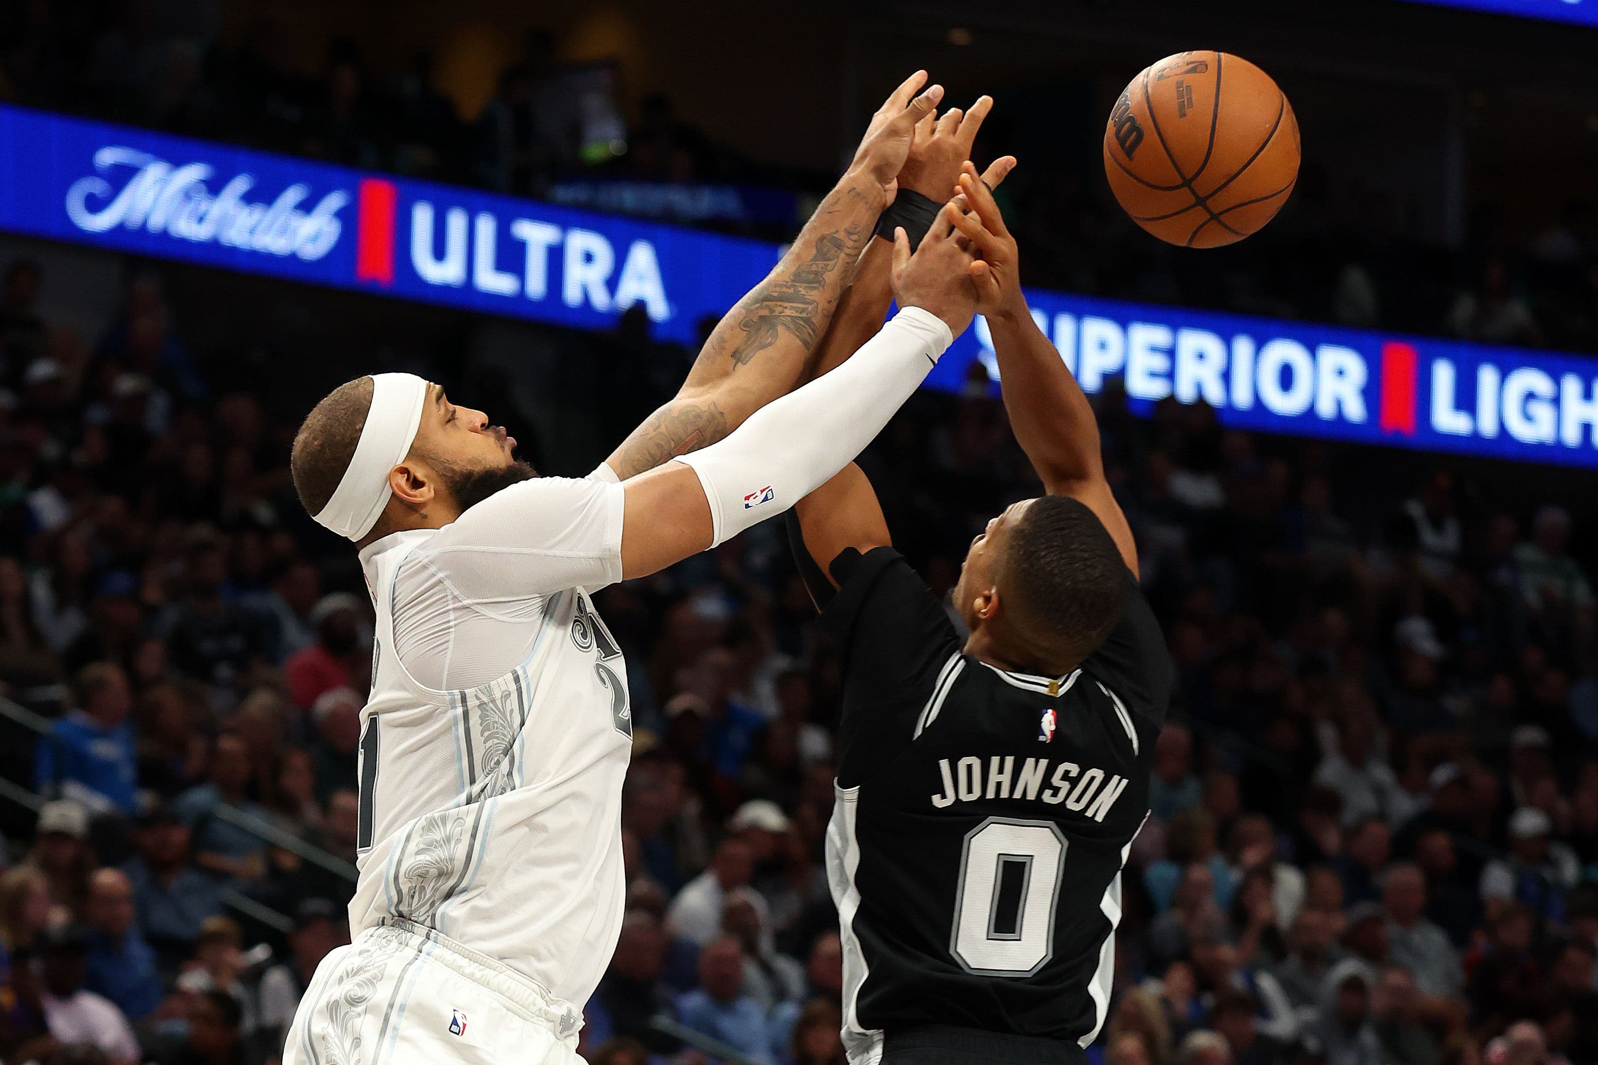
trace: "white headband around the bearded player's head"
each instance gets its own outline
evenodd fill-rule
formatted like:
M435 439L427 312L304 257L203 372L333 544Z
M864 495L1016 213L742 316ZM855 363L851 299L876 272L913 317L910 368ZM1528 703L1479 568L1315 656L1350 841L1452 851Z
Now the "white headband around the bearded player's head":
M316 521L355 540L364 536L388 505L388 471L411 453L427 406L427 382L415 374L372 374L372 407L361 426L361 442L339 479L339 490Z

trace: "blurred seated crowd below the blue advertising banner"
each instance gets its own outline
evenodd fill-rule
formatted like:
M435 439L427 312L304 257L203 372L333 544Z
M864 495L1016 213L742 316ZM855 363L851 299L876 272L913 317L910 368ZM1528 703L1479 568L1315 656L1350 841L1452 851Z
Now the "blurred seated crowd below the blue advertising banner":
M348 936L371 605L292 497L292 415L213 390L161 283L74 345L38 270L0 276L0 773L46 800L0 803L0 1055L268 1062ZM1496 503L1517 468L1096 402L1179 693L1095 1065L1598 1062L1590 536ZM863 465L938 592L1037 492L984 388ZM780 522L598 605L638 728L590 1060L839 1062L837 663Z

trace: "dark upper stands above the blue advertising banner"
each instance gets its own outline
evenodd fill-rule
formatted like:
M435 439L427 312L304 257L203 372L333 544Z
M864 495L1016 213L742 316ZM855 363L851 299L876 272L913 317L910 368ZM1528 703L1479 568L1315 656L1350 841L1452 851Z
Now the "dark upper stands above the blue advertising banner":
M222 0L3 0L0 99L769 240L788 240L831 182L706 136L666 96L623 107L626 70L566 61L547 29L515 43L487 102L463 115L425 51L380 69L340 37L302 70L275 22L224 35L222 10ZM1111 201L1096 121L1063 148L1051 125L1012 121L1000 109L978 141L981 160L1050 160L1023 164L1000 190L1032 284L1598 351L1593 198L1545 204L1532 230L1507 227L1502 204L1478 203L1464 246L1441 247L1416 240L1392 193L1334 179L1310 152L1282 217L1261 235L1181 255Z

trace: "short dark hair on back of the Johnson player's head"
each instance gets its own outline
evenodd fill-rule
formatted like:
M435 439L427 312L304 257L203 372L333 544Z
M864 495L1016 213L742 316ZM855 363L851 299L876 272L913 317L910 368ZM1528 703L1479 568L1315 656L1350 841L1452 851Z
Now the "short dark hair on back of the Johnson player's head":
M1104 522L1080 500L1045 495L1010 529L999 586L1029 643L1082 661L1120 621L1128 580Z

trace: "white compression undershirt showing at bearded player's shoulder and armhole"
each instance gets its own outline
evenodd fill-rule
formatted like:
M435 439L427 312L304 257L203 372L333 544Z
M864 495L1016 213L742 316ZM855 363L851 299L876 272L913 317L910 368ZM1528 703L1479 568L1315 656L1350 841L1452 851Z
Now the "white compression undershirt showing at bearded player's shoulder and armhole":
M586 481L537 477L411 551L393 589L395 653L411 677L475 688L526 661L550 594L622 580L623 501L609 466Z

